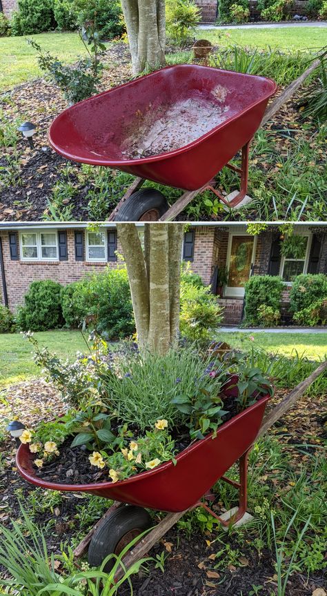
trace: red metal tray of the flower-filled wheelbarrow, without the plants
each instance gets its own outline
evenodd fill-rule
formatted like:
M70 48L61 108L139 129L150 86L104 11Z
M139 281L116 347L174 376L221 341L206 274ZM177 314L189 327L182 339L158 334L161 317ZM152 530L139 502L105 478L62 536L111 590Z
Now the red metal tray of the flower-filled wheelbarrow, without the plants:
M163 511L184 511L197 503L211 486L244 454L257 437L269 396L219 427L217 436L208 435L154 470L120 482L98 484L54 484L35 476L28 445L17 452L19 473L37 486L52 490L83 492Z

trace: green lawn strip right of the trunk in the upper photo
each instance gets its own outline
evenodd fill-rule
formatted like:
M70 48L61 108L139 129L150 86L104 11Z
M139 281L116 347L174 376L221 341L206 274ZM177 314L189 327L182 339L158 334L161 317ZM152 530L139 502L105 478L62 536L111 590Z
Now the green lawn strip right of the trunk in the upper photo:
M199 29L197 39L208 39L215 46L240 43L241 46L278 48L279 50L319 50L326 46L327 29L285 27L281 29Z

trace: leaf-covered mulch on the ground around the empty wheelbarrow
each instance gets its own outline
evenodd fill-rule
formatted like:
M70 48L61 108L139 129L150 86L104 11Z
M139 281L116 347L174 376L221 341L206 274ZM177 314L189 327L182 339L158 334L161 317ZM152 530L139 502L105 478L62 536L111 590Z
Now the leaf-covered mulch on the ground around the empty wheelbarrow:
M169 48L170 51L171 49ZM108 52L106 52L104 62L106 63L107 70L103 74L101 90L106 90L130 80L132 76L130 55L126 44L115 43L111 46ZM44 79L37 79L14 88L11 92L3 95L5 97L10 96L14 102L14 106L6 101L2 102L0 96L0 107L6 117L8 117L8 120L15 121L19 116L32 121L37 125L37 133L33 137L35 143L35 149L33 151L28 148L26 139L20 139L17 144L18 165L17 171L13 174L14 181L9 188L1 189L0 186L0 221L39 221L47 217L53 219L48 208L48 203L52 199L52 189L58 181L63 179L63 170L68 164L71 166L69 174L70 183L76 190L74 197L64 199L67 201L66 205L70 206L69 219L81 221L90 219L86 215L86 208L88 206L88 199L86 197L88 191L93 188L92 180L79 181L77 176L81 170L81 165L60 157L48 145L47 133L50 123L61 110L67 107L59 90ZM311 119L307 119L306 124L309 126L306 130L302 130L303 121L297 105L300 95L301 90L279 110L273 121L265 127L266 130L274 131L272 143L274 151L279 155L279 159L280 156L286 155L288 148L290 148L291 137L293 139L301 138L308 140L316 130ZM292 129L289 134L286 132L288 127ZM317 157L317 166L322 168L324 151L321 149L318 153L320 152L321 155L319 158ZM1 168L7 170L10 161L14 161L14 150L2 149L0 171ZM272 175L278 170L278 166L269 163L268 159L266 162L264 159L260 160L259 163L257 162L258 160L255 158L252 159L252 162L250 161L250 171L251 163L261 168L261 170L266 171L267 175ZM119 196L108 196L108 205L104 214L101 212L99 217L92 217L91 219L106 219L110 215L111 210L119 202L124 190L125 187L122 186ZM221 190L224 189L221 188ZM176 190L176 199L180 194ZM108 195L110 195L110 191L108 191ZM221 212L216 216L208 212L204 213L202 219L212 221L214 219L224 219L225 217L225 212ZM237 219L237 212L234 213L233 217ZM253 210L253 214L249 212L248 218L257 219L257 212L255 210ZM192 215L188 215L186 210L177 219L192 219Z

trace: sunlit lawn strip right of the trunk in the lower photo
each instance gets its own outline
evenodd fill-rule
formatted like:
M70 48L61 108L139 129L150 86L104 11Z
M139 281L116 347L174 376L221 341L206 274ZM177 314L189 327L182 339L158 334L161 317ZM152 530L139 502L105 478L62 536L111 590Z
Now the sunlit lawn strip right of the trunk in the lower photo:
M252 342L249 337L254 337ZM250 331L217 334L217 340L226 341L233 348L261 346L270 352L280 352L290 356L293 350L306 355L310 360L320 360L327 356L326 333L269 333Z

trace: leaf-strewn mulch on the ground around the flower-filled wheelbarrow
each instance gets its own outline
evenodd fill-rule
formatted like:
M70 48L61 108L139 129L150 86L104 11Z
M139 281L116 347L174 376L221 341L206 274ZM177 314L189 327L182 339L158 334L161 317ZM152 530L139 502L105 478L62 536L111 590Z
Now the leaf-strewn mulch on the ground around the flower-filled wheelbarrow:
M279 401L286 393L286 390L278 390L273 401ZM19 415L28 426L37 424L40 419L52 419L63 408L57 391L42 379L25 381L3 390L1 398L0 419ZM303 397L270 432L280 435L283 448L289 451L295 464L304 464L308 455L301 453L299 448L293 448L292 444L299 446L309 443L312 446L317 445L319 449L326 434L325 422L321 398ZM18 497L23 502L24 497L28 497L35 487L28 485L17 473L15 448L10 439L1 444L1 453L0 523L9 525L11 518L21 517ZM62 493L61 504L52 513L46 511L35 514L34 521L38 524L55 519L54 525L46 534L49 552L58 553L60 542L71 544L79 531L79 521L75 518L77 506L83 503L83 499L89 498L78 493ZM212 542L215 537L215 532L198 532L188 539L183 532L172 528L150 551L152 557L161 555L164 551L167 556L164 574L159 568L154 568L154 565L151 566L150 575L141 570L132 579L135 596L248 596L253 585L263 586L259 591L260 596L277 593L272 553L264 549L259 557L250 541L244 542L239 566L230 564L217 571L210 555L224 548L224 544ZM239 549L239 543L232 533L226 534L226 544L232 549ZM322 571L309 578L297 572L290 578L286 596L312 596L316 588L323 586L326 586L326 582ZM129 595L128 586L122 586L119 596Z

